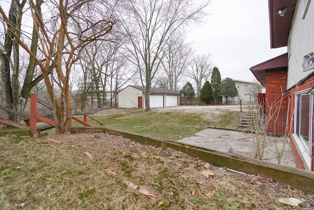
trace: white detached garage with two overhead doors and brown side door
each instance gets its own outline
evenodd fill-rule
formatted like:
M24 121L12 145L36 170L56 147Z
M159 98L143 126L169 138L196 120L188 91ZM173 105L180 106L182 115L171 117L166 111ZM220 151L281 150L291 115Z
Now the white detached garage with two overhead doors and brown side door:
M151 90L151 108L180 105L180 92L164 88L151 88ZM118 96L119 107L145 109L145 97L142 86L129 85L120 90Z

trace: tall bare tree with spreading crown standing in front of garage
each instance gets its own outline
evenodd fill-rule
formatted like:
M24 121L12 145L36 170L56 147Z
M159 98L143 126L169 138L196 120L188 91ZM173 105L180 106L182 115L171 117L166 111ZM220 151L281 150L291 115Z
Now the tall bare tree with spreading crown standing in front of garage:
M127 49L139 69L144 90L145 111L150 111L152 81L165 56L166 44L175 31L204 16L209 1L198 6L191 0L128 0L122 6L121 26L126 32ZM127 13L124 13L127 12Z

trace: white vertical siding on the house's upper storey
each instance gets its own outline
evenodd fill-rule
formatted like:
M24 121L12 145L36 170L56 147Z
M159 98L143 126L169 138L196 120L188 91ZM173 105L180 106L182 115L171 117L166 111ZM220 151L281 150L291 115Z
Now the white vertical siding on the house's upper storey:
M297 1L297 7L294 12L294 19L289 35L288 89L314 72L314 69L303 71L304 56L314 51L314 0L311 0L304 19L302 19L302 3L302 0Z

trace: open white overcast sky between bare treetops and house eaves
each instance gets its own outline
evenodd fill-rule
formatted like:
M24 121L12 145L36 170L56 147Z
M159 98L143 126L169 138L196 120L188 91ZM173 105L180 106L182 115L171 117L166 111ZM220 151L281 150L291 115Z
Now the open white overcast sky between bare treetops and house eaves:
M212 0L207 23L188 40L195 54L210 54L221 78L252 82L250 67L287 52L270 49L268 0Z

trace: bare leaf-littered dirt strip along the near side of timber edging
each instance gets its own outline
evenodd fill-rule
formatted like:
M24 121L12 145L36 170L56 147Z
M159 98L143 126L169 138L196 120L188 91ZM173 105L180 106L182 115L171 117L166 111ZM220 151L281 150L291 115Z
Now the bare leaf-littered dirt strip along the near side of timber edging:
M88 152L110 174L126 183L128 190L145 194L146 206L158 209L238 210L313 209L314 196L268 178L235 173L169 148L142 145L106 133L51 135L50 139ZM86 154L86 153L85 153ZM86 158L89 158L86 155ZM206 178L201 172L213 175ZM279 198L296 198L291 207ZM228 204L229 203L229 204Z

